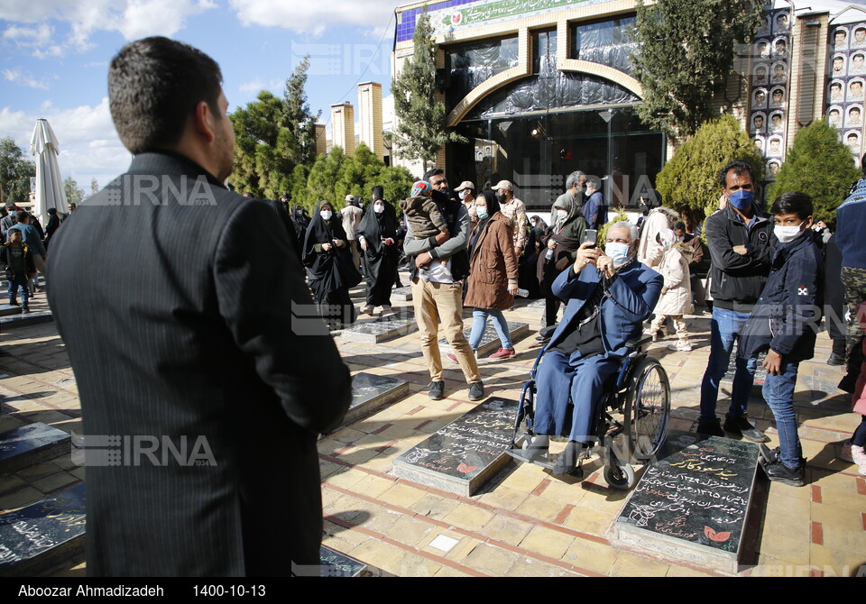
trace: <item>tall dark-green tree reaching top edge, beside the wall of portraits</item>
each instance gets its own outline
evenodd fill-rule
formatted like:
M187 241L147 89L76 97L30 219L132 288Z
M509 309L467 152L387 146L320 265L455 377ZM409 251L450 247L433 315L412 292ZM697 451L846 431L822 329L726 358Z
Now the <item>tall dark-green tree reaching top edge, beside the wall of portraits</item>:
M685 140L713 115L713 98L732 71L738 44L751 41L762 2L638 0L631 60L643 87L644 124Z

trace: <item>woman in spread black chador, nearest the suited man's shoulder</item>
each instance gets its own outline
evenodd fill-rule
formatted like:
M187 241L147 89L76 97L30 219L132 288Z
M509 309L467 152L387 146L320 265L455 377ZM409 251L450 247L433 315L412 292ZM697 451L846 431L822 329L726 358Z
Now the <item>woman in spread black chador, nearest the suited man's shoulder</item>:
M304 266L319 312L331 329L355 323L349 288L361 282L352 262L342 221L329 201L320 201L304 240Z

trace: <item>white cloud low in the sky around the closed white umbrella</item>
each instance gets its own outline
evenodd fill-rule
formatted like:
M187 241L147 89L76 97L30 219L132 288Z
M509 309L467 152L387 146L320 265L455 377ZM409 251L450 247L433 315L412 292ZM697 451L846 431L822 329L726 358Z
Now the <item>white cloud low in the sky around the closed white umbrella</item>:
M82 105L56 109L50 103L41 105L38 113L27 114L0 109L0 136L12 136L30 155L30 140L36 120L44 117L60 142L60 173L72 176L78 187L90 190L90 179L97 178L100 187L129 167L131 156L117 138L108 110L108 98L95 106Z

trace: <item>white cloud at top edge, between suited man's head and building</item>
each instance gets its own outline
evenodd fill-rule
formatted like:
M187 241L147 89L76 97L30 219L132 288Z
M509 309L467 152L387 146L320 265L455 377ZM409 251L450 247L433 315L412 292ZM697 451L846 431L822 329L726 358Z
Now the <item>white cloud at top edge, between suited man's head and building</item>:
M394 0L229 0L244 25L276 25L316 36L335 25L384 27L394 14L396 4ZM381 30L379 34L382 35Z

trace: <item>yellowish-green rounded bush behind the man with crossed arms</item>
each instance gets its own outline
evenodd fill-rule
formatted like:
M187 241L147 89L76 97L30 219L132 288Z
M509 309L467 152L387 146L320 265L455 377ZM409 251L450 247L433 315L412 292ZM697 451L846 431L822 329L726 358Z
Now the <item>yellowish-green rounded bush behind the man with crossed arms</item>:
M664 205L692 220L702 220L718 207L722 193L719 170L733 160L748 161L755 178L763 178L764 163L749 135L730 114L701 126L656 177Z

